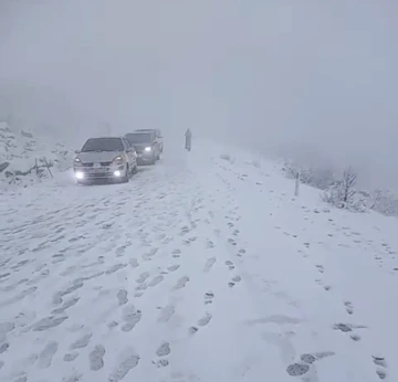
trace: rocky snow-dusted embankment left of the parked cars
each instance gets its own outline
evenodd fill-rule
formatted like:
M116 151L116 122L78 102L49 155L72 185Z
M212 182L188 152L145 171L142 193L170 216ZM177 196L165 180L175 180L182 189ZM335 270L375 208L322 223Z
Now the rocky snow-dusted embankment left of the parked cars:
M32 185L71 167L73 152L48 137L0 121L0 189Z

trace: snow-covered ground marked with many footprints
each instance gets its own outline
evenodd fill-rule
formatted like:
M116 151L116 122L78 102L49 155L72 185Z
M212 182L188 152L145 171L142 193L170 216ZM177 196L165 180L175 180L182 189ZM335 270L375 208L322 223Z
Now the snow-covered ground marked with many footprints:
M203 146L4 194L0 381L397 381L397 220L293 193Z

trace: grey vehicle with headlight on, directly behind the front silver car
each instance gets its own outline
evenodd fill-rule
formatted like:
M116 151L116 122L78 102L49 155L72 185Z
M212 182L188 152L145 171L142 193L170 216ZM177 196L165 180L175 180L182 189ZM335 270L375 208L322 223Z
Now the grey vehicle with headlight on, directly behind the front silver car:
M160 159L159 142L154 131L129 132L125 138L135 147L138 165L155 165Z

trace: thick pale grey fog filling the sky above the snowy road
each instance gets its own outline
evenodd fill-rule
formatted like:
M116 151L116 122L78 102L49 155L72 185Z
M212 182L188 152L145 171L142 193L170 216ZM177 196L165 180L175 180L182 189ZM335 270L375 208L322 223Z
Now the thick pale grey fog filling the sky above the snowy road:
M396 0L0 0L0 113L159 127L398 188Z

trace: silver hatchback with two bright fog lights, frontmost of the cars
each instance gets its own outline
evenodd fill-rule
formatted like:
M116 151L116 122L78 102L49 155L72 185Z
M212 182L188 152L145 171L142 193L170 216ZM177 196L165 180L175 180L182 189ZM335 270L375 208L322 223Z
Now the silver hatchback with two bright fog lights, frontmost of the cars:
M137 153L126 138L88 139L73 162L77 183L96 180L128 182L137 172Z

